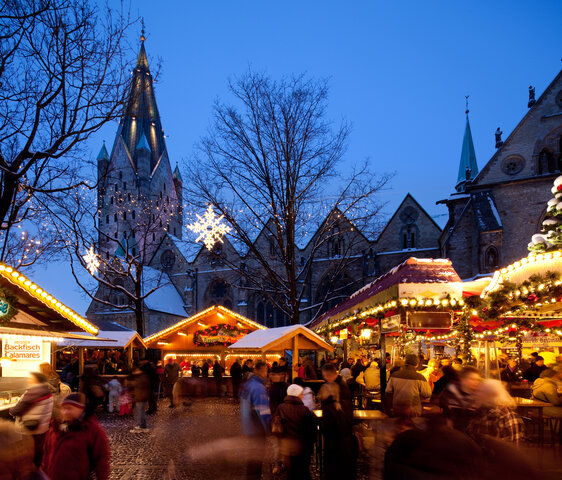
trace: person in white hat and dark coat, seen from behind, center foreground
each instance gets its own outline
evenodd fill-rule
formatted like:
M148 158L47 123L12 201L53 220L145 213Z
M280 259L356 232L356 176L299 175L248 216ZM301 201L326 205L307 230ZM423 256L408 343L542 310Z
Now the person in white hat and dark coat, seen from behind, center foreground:
M296 384L287 388L287 396L277 409L283 426L280 452L288 467L289 480L310 479L310 456L314 448L316 421L302 403L304 389Z

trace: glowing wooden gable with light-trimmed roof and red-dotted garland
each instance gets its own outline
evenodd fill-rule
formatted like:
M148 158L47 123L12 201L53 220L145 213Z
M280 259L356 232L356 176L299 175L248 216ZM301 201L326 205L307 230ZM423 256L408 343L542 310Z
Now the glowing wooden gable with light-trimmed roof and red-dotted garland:
M220 305L215 305L192 317L144 339L149 349L162 352L162 358L170 356L190 363L210 359L219 360L225 368L234 363L226 349L243 336L266 327ZM249 358L246 355L246 358Z

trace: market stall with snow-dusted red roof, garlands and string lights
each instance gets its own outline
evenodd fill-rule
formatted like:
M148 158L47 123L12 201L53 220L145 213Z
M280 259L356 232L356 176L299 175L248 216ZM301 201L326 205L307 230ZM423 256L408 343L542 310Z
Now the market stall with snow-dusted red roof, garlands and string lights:
M341 344L344 356L365 344L380 349L385 364L387 337L393 355L451 337L455 314L464 307L462 292L463 283L449 260L411 257L326 312L311 328ZM439 356L443 348L436 347L433 354ZM383 376L381 371L382 385Z

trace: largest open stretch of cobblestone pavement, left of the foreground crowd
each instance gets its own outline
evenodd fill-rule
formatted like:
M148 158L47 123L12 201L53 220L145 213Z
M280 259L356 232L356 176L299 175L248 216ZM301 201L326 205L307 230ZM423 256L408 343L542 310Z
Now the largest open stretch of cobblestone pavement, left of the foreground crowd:
M244 478L236 403L209 398L174 409L161 401L158 407L148 417L148 433L130 433L132 417L100 414L111 443L112 479Z

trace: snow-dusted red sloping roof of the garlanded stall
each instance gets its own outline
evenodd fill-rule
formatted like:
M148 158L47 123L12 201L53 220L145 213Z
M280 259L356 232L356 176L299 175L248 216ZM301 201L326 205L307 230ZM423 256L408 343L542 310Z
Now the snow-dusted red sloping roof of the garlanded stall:
M344 312L395 285L406 283L444 284L453 282L460 284L461 279L453 268L450 260L445 258L410 257L384 275L357 290L347 300L344 300L316 320L313 320L310 326L312 328L317 327L329 318L342 315Z

